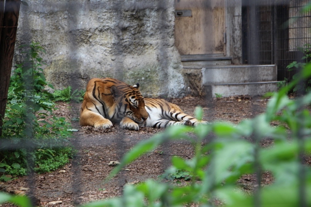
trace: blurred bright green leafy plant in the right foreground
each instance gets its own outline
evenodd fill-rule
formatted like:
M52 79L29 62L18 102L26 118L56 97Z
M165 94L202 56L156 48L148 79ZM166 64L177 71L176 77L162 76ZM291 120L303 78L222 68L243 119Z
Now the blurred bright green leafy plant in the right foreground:
M172 169L166 175L188 172L188 185L147 180L138 185L124 187L122 197L97 201L91 206L213 206L220 200L223 206L309 206L311 199L311 169L302 163L303 156L311 153L311 116L305 105L311 103L311 93L289 99L287 93L300 80L311 76L311 64L306 65L297 78L271 97L266 112L237 125L216 122L196 128L176 126L138 143L106 178L109 180L128 163L143 153L156 149L167 141L187 139L193 143L192 159L172 158ZM201 112L200 112L201 111ZM196 110L202 116L202 110ZM270 122L277 121L278 126ZM196 137L190 136L189 133ZM205 137L216 138L202 145ZM245 139L247 138L248 139ZM274 144L260 147L264 138ZM177 169L177 171L176 171ZM261 185L262 172L273 174L274 182ZM243 174L256 174L258 187L253 194L244 193L237 186Z

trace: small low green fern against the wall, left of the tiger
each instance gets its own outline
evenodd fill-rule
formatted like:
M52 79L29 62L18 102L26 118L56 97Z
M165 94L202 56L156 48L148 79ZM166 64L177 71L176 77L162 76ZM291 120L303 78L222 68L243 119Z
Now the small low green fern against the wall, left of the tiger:
M53 95L53 99L55 101L63 101L63 102L82 102L84 97L85 91L84 90L74 90L72 92L71 86L64 88L63 90L55 90Z

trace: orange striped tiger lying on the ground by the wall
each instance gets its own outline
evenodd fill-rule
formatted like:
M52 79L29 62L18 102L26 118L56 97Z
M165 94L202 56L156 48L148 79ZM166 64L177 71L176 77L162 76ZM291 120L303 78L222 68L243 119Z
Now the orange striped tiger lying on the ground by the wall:
M138 83L130 86L113 78L93 78L86 86L80 125L107 129L112 122L119 122L121 128L129 130L207 123L183 113L176 104L164 99L144 98Z

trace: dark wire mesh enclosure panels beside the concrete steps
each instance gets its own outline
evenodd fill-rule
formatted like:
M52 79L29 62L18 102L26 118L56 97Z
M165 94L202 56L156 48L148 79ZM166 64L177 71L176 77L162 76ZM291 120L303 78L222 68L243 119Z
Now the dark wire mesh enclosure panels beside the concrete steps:
M246 6L244 30L248 30L245 36L248 42L244 43L247 45L244 48L249 51L249 57L245 53L244 60L251 64L276 64L278 80L292 80L294 71L289 71L286 67L293 61L300 61L304 49L299 48L308 48L310 44L310 13L301 12L307 3L308 1L267 1L262 5L257 1ZM258 34L255 41L256 35L253 33ZM255 46L252 47L253 44Z

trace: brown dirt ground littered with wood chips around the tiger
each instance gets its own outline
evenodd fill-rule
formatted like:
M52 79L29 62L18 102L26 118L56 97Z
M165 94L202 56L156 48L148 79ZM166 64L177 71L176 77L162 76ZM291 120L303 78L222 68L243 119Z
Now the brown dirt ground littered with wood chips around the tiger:
M193 115L197 105L201 105L204 109L204 120L208 122L225 120L232 123L239 123L245 118L264 112L267 104L265 99L249 96L210 100L188 96L170 101L178 104L185 113L190 115ZM59 116L67 117L69 120L79 116L80 104L58 103L57 107L56 113ZM128 131L120 129L118 125L108 130L101 130L79 127L78 122L72 122L72 125L73 128L79 129L70 139L78 152L70 163L55 172L32 174L13 181L0 182L0 191L34 195L34 200L39 206L77 206L93 200L121 195L126 183L141 182L149 178L159 179L158 176L170 166L172 155L188 159L194 154L192 145L187 141L167 143L143 155L111 181L104 183L104 179L113 169L108 165L110 161L120 161L123 154L137 142L164 130L141 128L139 131ZM206 141L208 142L208 139ZM263 146L269 144L269 140L262 143ZM162 154L158 153L162 151ZM265 173L262 184L269 184L272 180L272 176ZM238 183L245 190L251 191L256 187L256 176L245 175Z

